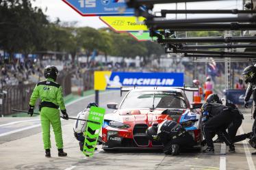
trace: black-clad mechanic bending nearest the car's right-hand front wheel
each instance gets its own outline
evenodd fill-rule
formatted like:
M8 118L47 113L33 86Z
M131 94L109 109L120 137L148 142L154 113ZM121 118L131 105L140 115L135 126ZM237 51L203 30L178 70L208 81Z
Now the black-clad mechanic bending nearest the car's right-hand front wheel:
M203 136L207 145L203 152L214 153L214 142L212 138L215 134L222 136L226 145L229 146L229 152L235 152L233 141L226 132L229 124L234 119L231 108L218 103L205 103L202 106L202 113Z

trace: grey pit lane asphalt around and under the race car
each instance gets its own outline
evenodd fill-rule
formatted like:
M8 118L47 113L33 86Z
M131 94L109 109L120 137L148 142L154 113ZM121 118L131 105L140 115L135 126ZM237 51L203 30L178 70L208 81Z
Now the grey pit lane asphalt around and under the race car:
M88 102L94 100L94 96L84 98L73 104L68 105L69 115L75 116L79 111L84 109ZM100 107L105 107L107 102L120 103L120 92L111 91L106 94L100 94ZM110 111L107 111L109 113ZM251 131L253 121L250 119L248 110L243 110L245 120L242 128L244 132ZM11 128L10 126L1 126L10 122L30 119L30 117L8 117L0 118L0 135L1 129ZM38 118L31 118L38 119ZM32 121L33 122L33 121ZM35 121L36 122L36 121ZM166 156L161 152L113 152L107 153L99 150L93 158L85 157L79 152L78 142L73 137L73 120L62 121L62 131L64 137L64 150L68 157L57 157L53 133L52 141L52 158L44 158L42 146L42 137L40 127L23 130L0 137L0 169L255 169L256 157L251 156L248 152L254 152L248 142L236 143L236 153L229 153L228 148L215 145L215 154L202 154L197 152L181 153L179 156ZM24 125L25 124L25 125ZM34 124L34 123L33 123ZM36 124L36 123L35 123ZM15 124L15 128L21 126L31 126L31 122ZM222 154L220 154L220 152ZM227 154L225 154L227 152ZM246 156L247 154L247 156Z

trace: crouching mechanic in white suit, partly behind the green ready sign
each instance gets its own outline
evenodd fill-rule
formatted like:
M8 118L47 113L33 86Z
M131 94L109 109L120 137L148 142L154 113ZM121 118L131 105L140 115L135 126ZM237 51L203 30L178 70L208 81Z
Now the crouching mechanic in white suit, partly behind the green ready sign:
M98 107L98 105L94 102L90 102L87 105L86 109L84 109L84 111L81 111L80 113L78 113L77 119L86 119L86 120L88 120L90 107ZM77 120L74 124L74 127L73 127L74 135L75 135L75 138L77 139L77 141L79 141L79 147L80 147L81 151L84 150L84 139L85 139L84 132L86 132L86 126L87 126L86 121ZM97 150L96 147L95 147L95 150Z

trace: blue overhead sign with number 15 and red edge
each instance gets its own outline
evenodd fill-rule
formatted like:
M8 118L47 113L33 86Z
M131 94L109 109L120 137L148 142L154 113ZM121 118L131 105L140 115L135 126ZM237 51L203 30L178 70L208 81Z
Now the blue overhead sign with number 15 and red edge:
M125 0L62 0L82 16L134 16Z

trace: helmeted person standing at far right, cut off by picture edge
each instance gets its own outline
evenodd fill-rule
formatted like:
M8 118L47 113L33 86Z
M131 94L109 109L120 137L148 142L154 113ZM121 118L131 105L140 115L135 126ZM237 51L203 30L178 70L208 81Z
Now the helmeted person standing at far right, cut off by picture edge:
M252 118L254 119L253 123L253 132L251 139L249 140L249 143L252 147L256 149L256 67L255 66L248 66L244 69L242 72L244 75L245 83L249 83L248 87L246 89L246 94L244 98L244 107L248 108L248 100L251 98L251 95L253 94L253 104L254 104L254 111L252 112ZM253 152L252 154L256 154L256 152Z

